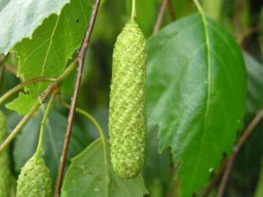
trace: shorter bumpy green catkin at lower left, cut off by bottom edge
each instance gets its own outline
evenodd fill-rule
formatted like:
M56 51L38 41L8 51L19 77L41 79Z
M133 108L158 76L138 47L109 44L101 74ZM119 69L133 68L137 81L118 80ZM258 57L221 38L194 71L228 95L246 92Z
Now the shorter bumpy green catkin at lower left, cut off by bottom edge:
M36 196L51 196L51 178L45 161L35 154L21 169L17 181L16 197Z

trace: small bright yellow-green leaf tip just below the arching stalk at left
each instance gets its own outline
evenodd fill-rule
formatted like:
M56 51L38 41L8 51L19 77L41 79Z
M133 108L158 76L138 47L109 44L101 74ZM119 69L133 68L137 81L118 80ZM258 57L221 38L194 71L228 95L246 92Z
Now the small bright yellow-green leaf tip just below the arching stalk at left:
M9 102L5 106L9 110L16 111L19 115L26 115L26 113L31 110L35 103L36 99L34 99L31 95L19 92L19 97L17 97L12 102Z

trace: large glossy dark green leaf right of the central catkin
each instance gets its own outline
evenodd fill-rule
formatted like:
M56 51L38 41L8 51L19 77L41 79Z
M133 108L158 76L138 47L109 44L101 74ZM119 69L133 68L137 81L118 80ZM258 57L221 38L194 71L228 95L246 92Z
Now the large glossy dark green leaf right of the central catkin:
M191 194L230 153L247 95L244 60L222 26L200 14L148 40L148 127L179 164L181 196Z

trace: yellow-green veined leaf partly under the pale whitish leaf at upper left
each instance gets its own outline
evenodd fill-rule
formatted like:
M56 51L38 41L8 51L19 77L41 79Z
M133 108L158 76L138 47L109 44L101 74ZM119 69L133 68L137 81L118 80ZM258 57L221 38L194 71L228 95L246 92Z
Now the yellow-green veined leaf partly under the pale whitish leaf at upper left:
M14 50L19 57L18 75L24 80L38 77L56 77L61 74L68 59L81 45L86 31L91 5L86 0L67 4L59 16L53 14ZM48 84L29 87L31 95L38 96Z

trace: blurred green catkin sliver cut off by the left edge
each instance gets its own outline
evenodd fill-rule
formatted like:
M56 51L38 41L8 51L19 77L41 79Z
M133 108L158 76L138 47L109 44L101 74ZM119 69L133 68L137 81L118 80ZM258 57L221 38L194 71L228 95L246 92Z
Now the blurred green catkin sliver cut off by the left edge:
M6 117L0 111L0 144L6 138ZM5 149L0 153L0 196L9 197L11 190L11 169L9 149Z

